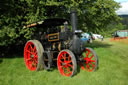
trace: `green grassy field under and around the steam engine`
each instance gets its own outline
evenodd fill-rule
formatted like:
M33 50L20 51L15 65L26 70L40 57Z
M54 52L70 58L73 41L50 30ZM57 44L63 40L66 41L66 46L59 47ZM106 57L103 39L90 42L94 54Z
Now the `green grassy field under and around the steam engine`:
M95 72L79 70L72 78L59 71L29 71L23 56L0 58L0 85L128 85L128 43L96 41L92 47L99 57ZM6 56L5 56L6 57Z

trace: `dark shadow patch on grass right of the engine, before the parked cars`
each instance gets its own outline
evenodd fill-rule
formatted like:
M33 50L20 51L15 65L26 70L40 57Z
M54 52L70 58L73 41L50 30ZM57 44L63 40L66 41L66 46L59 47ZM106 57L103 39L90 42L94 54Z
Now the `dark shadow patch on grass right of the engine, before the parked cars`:
M111 44L108 44L106 42L101 42L101 41L94 41L93 43L86 43L85 44L86 47L90 47L90 48L108 48L110 46L112 46Z

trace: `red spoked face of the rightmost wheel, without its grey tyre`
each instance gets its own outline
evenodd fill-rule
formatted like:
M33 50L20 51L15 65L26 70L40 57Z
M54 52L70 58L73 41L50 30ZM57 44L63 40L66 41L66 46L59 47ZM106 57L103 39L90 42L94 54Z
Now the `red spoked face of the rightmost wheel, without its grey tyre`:
M95 57L93 55L93 53L86 48L86 50L84 51L85 55L83 55L83 61L80 62L80 66L83 70L87 70L88 72L91 72L94 70L95 68Z

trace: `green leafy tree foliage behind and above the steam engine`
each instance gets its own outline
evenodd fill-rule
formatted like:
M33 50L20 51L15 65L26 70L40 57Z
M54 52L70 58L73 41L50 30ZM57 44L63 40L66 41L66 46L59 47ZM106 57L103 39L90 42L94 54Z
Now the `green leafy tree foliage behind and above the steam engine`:
M23 26L39 20L61 17L70 19L70 9L78 11L78 28L100 32L120 19L114 0L3 0L0 4L0 45L23 43L31 38L35 28Z

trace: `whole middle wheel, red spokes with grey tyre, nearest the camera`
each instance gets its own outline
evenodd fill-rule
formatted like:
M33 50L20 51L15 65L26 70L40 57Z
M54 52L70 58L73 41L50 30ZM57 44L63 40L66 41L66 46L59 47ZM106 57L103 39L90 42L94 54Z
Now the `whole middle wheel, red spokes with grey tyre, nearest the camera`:
M57 66L61 75L73 76L77 71L74 54L70 50L62 50L58 55Z

